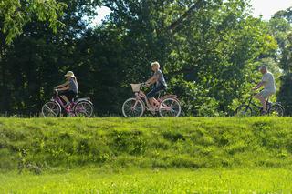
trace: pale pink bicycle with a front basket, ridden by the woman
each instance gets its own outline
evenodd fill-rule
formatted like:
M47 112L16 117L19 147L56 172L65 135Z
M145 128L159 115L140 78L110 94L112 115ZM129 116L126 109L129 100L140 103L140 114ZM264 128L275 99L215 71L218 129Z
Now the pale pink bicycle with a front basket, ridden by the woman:
M181 103L175 95L160 97L160 94L157 98L159 104L151 107L146 95L141 91L141 87L145 85L142 83L131 84L130 86L135 96L127 99L122 105L122 114L124 117L141 117L145 110L151 111L152 113L158 112L161 117L179 117L181 115Z

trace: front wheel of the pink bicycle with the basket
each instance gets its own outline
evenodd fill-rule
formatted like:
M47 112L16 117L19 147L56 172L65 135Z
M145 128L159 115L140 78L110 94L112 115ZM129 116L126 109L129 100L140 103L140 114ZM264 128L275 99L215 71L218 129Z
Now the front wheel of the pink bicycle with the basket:
M124 117L141 117L144 111L144 103L134 97L127 99L122 105L122 114Z

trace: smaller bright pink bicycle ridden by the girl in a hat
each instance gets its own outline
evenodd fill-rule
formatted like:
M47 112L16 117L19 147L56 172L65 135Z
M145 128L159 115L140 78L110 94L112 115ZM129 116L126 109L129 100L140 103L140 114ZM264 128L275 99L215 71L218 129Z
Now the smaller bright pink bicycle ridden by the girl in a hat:
M62 110L69 117L91 117L93 104L89 97L84 97L73 99L71 104L65 107L63 101L58 97L57 90L55 90L54 97L42 107L42 114L44 117L60 117Z

